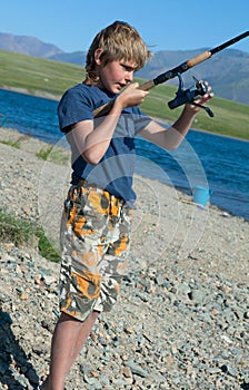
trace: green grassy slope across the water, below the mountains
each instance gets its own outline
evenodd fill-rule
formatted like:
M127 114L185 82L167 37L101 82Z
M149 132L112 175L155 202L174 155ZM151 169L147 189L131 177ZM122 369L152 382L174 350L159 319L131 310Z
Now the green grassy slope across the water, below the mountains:
M29 94L51 96L59 99L66 89L84 79L82 66L0 50L0 88L20 88ZM167 69L166 69L167 70ZM137 79L140 84L142 79ZM213 86L215 89L215 86ZM150 116L169 123L176 120L182 109L168 108L177 88L160 85L150 90L141 108ZM193 128L226 136L249 139L249 106L215 97L210 101L215 117L201 111Z

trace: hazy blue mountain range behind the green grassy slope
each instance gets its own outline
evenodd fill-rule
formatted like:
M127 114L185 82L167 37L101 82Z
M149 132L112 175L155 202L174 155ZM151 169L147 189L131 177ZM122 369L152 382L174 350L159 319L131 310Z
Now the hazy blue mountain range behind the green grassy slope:
M53 59L62 62L71 62L84 66L86 51L64 52L51 43L27 37L10 33L0 33L0 49L26 53L29 56ZM185 62L203 52L207 48L196 50L165 50L155 52L152 59L136 76L145 79L153 79L158 75ZM186 88L193 84L192 77L207 79L216 96L249 104L249 53L236 49L225 49L209 60L198 65L182 75ZM177 85L177 78L168 81Z

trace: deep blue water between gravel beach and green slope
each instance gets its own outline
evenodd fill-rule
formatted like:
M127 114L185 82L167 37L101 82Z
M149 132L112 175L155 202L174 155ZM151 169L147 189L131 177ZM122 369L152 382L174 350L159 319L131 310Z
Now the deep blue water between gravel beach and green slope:
M61 139L57 105L53 100L0 89L4 126L52 144ZM248 142L190 130L175 152L166 152L141 138L136 145L137 173L187 194L197 185L208 186L211 204L249 221Z

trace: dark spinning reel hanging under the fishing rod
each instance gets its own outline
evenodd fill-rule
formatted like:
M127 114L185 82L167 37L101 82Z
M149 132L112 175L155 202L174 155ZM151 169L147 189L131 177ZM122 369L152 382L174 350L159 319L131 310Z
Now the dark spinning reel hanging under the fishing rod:
M181 74L178 74L177 76L179 79L179 87L176 94L177 95L176 98L168 103L169 108L173 109L188 103L197 107L203 108L210 117L213 117L215 114L209 107L202 106L199 103L195 101L199 99L201 96L208 94L208 87L206 86L206 84L203 81L199 81L196 77L193 77L193 80L196 81L196 84L189 89L183 89L183 80L182 80Z

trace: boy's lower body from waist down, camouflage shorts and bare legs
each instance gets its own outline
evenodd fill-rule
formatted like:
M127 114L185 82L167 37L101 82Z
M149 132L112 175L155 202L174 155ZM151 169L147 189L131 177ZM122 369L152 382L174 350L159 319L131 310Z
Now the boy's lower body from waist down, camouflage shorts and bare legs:
M108 199L98 188L87 192L88 197L82 199L83 189L72 194L73 205L62 235L62 314L54 330L50 374L42 390L63 390L66 377L98 313L109 311L116 303L124 271L131 211L112 196ZM87 206L81 209L83 204ZM89 223L94 228L89 231Z

